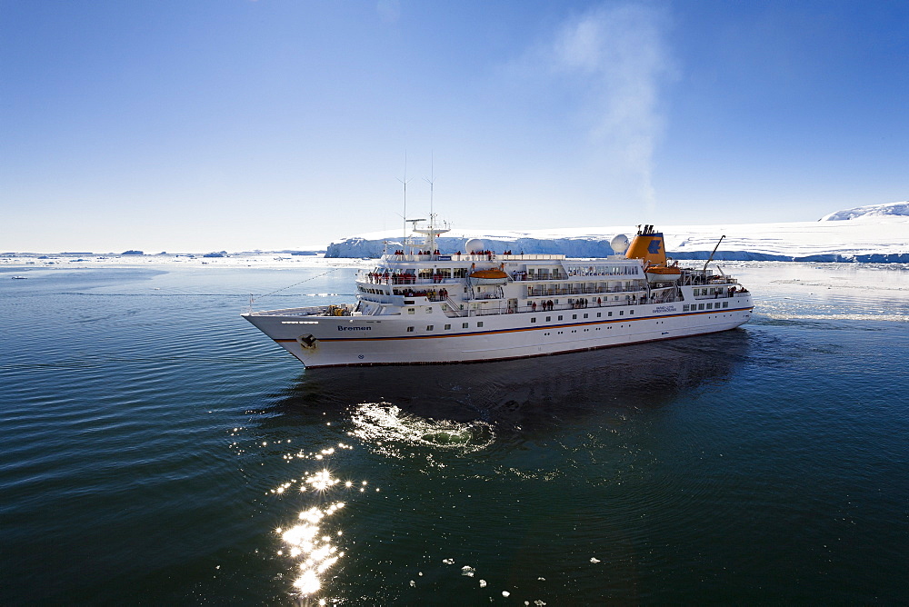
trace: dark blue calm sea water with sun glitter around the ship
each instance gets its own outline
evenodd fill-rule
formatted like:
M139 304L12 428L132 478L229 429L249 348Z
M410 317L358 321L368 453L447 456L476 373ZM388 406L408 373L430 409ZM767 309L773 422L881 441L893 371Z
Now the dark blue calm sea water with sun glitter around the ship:
M909 602L909 272L733 271L731 332L313 371L238 314L323 269L0 274L0 602Z

